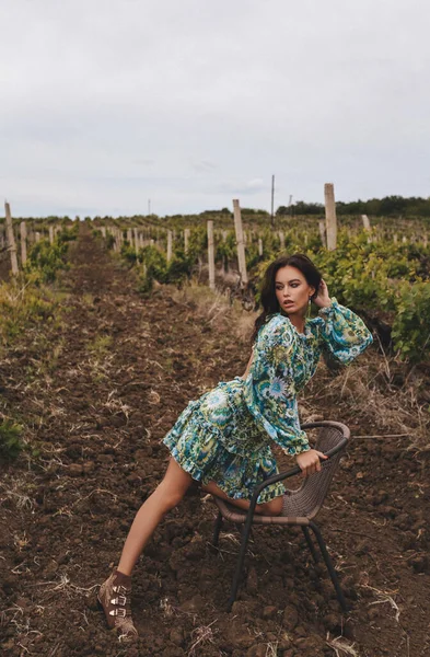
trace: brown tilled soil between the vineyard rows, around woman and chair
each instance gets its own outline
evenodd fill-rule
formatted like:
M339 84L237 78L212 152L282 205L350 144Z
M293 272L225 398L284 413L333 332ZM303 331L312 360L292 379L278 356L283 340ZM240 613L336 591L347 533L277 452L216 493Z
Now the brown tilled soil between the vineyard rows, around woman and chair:
M301 532L277 528L255 529L228 613L237 532L228 527L214 555L214 506L190 493L136 567L138 643L106 630L97 585L163 475L161 439L189 400L244 371L248 347L228 307L213 321L164 288L142 299L85 227L70 261L61 318L23 336L2 364L2 404L34 446L2 466L2 654L430 655L429 484L425 456L405 450L405 438L353 438L318 518L348 614ZM329 381L322 368L310 387L313 418L379 435L358 425L353 400L318 401Z

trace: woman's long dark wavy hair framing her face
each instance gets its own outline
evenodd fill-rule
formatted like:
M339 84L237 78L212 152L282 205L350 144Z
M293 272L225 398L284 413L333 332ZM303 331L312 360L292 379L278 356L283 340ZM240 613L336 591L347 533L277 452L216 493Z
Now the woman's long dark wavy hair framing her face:
M252 343L255 342L258 331L266 322L267 318L276 312L279 312L280 310L278 299L276 298L275 279L278 269L287 267L288 265L299 269L299 272L301 272L305 277L307 285L315 288L315 292L312 295L311 299L314 299L318 293L322 275L307 255L294 253L294 255L280 255L277 257L276 261L270 263L270 265L267 267L263 278L260 288L263 312L255 320Z

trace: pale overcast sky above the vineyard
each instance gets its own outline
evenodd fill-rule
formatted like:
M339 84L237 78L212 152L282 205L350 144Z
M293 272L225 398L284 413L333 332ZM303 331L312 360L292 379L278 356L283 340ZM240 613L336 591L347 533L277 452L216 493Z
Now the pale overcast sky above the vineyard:
M0 0L14 216L430 196L428 0Z

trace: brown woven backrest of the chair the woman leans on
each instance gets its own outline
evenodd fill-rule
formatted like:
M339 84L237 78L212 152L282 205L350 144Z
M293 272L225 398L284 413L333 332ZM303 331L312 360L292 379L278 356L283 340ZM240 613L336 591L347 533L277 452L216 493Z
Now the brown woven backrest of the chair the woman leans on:
M337 422L312 423L303 425L302 428L318 428L315 449L322 452L328 452L350 437L348 427ZM346 445L330 459L323 461L321 472L307 476L299 489L287 492L282 516L301 516L309 519L316 516L323 506L345 447Z

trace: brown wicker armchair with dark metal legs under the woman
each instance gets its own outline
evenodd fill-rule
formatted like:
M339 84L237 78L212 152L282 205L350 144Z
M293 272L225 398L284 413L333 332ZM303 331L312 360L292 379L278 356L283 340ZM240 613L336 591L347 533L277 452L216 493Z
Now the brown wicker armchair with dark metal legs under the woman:
M306 539L307 546L311 551L312 557L315 562L317 562L318 556L311 539L310 529L312 529L316 537L316 541L323 554L325 565L327 566L333 585L335 587L339 604L344 612L348 611L348 606L341 591L336 570L333 566L332 558L327 552L325 541L313 519L323 506L324 499L328 492L328 487L339 464L341 453L350 437L350 431L346 425L340 424L338 422L328 420L306 424L303 425L302 428L319 429L315 449L325 453L328 457L328 459L322 460L321 472L316 472L315 474L312 474L311 476L306 477L299 489L286 492L283 496L283 508L280 516L262 516L255 514L254 511L258 496L262 493L262 491L269 484L274 484L281 480L286 480L299 474L301 472L299 466L295 466L292 470L289 470L288 472L275 474L269 479L265 480L262 484L259 484L254 491L253 497L251 499L251 506L247 511L239 509L237 507L234 507L231 504L225 503L224 500L213 496L213 499L218 506L218 517L214 525L212 541L213 546L218 546L218 540L224 520L229 520L230 522L234 522L236 525L242 525L242 542L237 556L236 569L233 576L231 595L228 606L229 611L231 610L233 602L236 599L237 588L243 570L243 563L246 554L246 546L248 543L251 528L253 525L295 525L301 527Z

